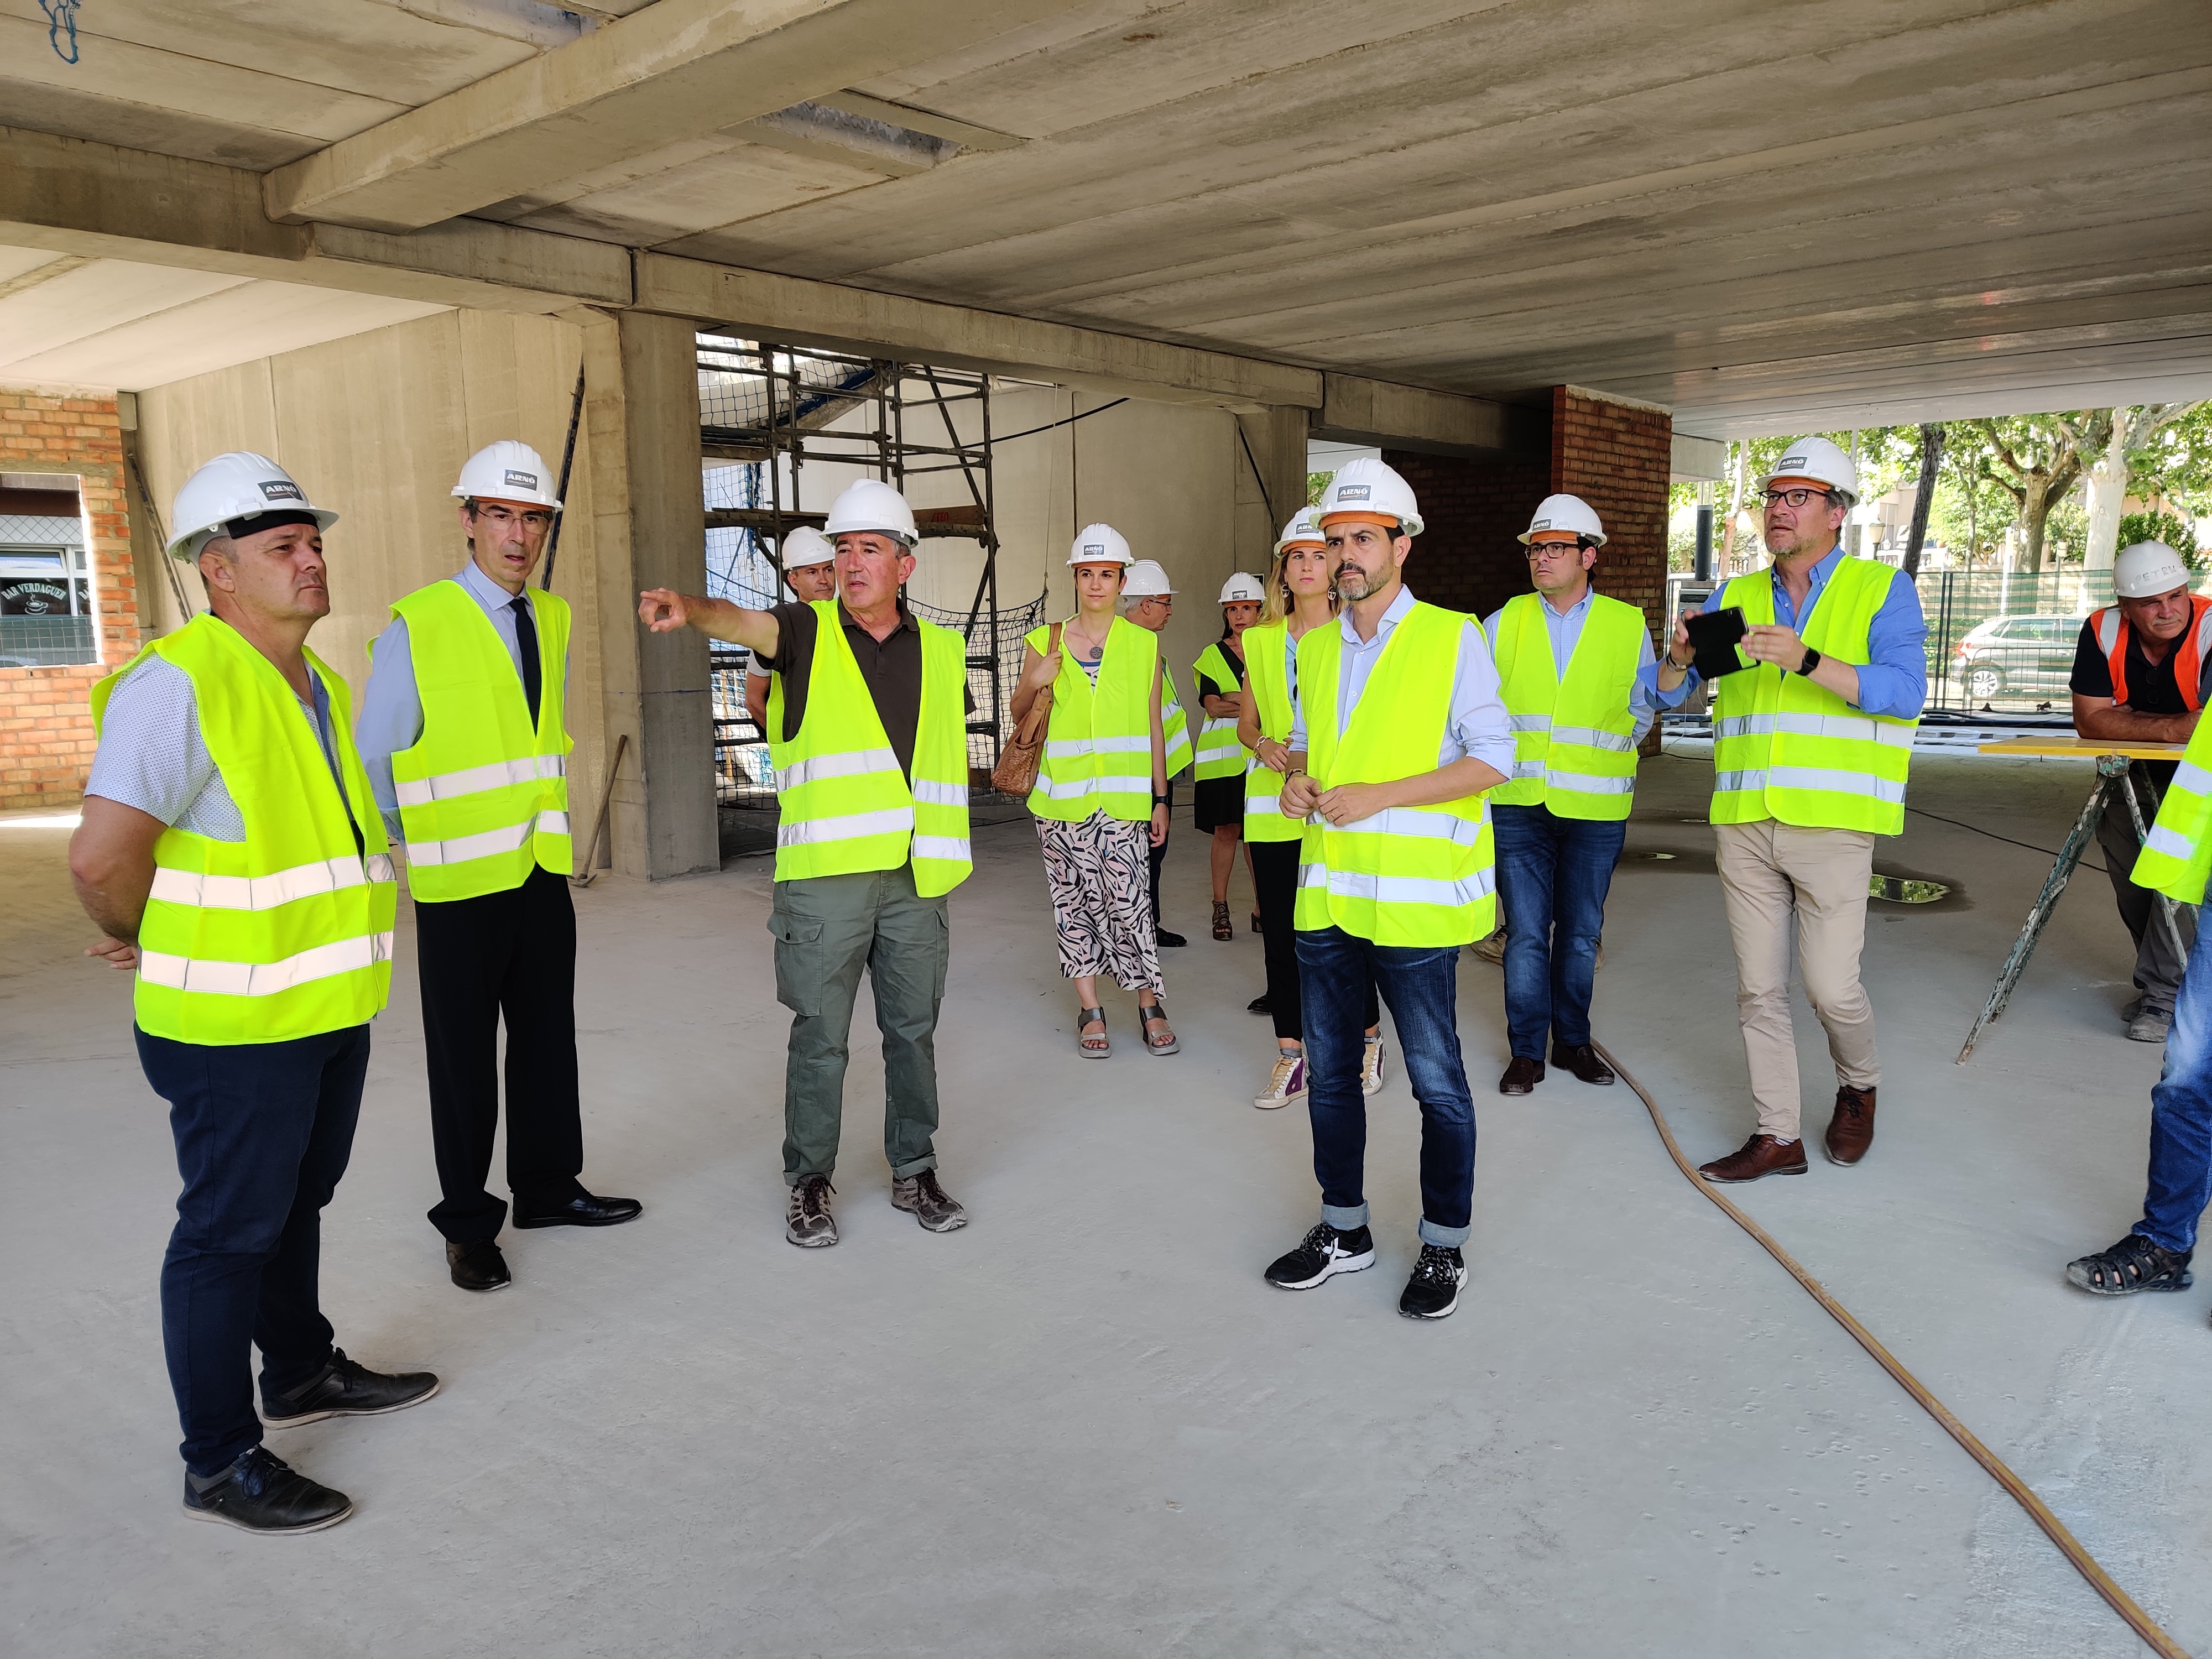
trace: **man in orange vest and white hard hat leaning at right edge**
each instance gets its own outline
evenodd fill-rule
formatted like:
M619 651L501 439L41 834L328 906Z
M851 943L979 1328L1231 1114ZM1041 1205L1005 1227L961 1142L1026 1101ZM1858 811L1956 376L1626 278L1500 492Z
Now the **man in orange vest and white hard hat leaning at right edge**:
M2188 743L2212 695L2212 599L2190 593L2190 568L2166 542L2137 542L2112 560L2112 604L2090 613L2075 646L2075 730L2124 743ZM2121 1011L2135 1042L2166 1042L2197 920L2137 887L2132 790L2148 825L2174 781L2172 761L2135 761L2106 799L2097 845L2112 876L2119 920L2135 940L2135 1000ZM2179 933L2179 936L2177 936Z

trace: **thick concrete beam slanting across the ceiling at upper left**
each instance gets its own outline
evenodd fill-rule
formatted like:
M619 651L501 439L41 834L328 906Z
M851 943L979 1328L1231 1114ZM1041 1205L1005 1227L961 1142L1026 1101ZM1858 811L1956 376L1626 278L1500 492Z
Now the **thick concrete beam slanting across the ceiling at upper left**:
M657 0L268 175L272 219L420 230L940 58L1075 0Z

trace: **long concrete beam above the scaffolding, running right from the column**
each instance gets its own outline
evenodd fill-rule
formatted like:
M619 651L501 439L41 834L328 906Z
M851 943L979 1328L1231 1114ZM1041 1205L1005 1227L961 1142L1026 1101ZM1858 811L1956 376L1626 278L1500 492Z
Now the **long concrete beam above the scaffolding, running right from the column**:
M1241 411L1314 409L1323 396L1316 369L1287 363L672 254L637 254L630 303L644 312L690 316L790 345L918 356L960 369L1051 378L1086 392L1159 403Z

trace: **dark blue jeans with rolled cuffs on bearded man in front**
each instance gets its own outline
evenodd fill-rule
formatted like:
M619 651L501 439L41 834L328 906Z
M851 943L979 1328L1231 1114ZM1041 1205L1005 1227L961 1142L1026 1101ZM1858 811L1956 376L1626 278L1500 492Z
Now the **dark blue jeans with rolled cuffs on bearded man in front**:
M1314 1121L1321 1219L1332 1228L1367 1225L1360 1046L1371 982L1389 1004L1405 1075L1420 1102L1420 1241L1467 1243L1475 1206L1475 1102L1460 1057L1458 978L1458 945L1371 945L1340 927L1298 933L1305 1110Z

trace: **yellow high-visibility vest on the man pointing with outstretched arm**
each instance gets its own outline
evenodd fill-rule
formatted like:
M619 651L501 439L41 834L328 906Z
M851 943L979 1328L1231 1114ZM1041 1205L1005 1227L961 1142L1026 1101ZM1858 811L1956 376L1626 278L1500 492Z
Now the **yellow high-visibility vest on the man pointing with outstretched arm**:
M922 635L922 703L914 783L883 732L836 599L814 599L814 661L799 737L770 741L776 768L776 880L854 876L914 860L914 891L949 894L973 869L967 821L967 646L914 617ZM783 675L768 690L768 730L783 732Z

